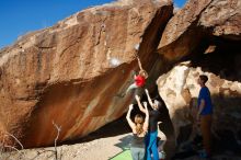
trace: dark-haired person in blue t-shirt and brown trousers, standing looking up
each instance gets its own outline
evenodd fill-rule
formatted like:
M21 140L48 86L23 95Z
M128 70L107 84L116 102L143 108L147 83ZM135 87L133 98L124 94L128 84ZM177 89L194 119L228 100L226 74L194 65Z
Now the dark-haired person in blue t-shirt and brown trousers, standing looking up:
M197 81L200 85L200 91L197 100L197 121L200 122L200 132L203 136L204 150L200 152L200 157L203 158L208 158L211 156L213 103L210 98L210 91L206 87L207 81L208 77L205 75L200 75Z

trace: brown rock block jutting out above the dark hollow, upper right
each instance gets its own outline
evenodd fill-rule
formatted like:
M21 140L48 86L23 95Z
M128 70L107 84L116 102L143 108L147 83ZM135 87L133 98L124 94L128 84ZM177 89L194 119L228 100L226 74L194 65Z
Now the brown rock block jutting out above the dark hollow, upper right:
M190 0L169 21L158 52L168 59L192 54L205 37L240 41L240 0Z

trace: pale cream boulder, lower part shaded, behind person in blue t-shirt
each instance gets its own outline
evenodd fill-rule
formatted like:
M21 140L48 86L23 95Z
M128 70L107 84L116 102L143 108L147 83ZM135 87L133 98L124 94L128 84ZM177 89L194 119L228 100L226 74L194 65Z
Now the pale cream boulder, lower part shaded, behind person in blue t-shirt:
M193 67L191 61L175 66L171 71L162 75L157 83L159 93L164 100L172 119L177 145L193 140L197 111L197 96L200 87L197 84L199 75L208 76L207 87L210 90L214 104L213 134L216 138L233 138L241 145L241 82L229 81L213 72ZM219 140L220 140L219 139ZM222 141L225 144L227 141ZM231 144L233 141L229 141ZM220 147L220 146L219 146Z

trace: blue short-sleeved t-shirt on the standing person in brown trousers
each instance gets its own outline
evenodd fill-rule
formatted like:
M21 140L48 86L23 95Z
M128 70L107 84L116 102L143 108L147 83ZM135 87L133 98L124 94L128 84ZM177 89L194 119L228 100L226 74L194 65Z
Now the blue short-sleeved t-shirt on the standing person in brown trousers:
M200 115L213 114L213 103L210 99L210 91L208 90L207 87L203 87L199 91L199 95L197 99L198 106L200 105L202 99L205 101L205 106L204 106L204 110L200 112Z

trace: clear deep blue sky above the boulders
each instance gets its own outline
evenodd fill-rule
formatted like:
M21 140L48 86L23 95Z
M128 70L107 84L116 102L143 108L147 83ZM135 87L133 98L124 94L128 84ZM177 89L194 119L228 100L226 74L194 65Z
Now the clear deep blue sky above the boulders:
M114 0L0 0L0 48L30 31L51 26L82 9L111 1ZM181 8L185 1L174 3Z

